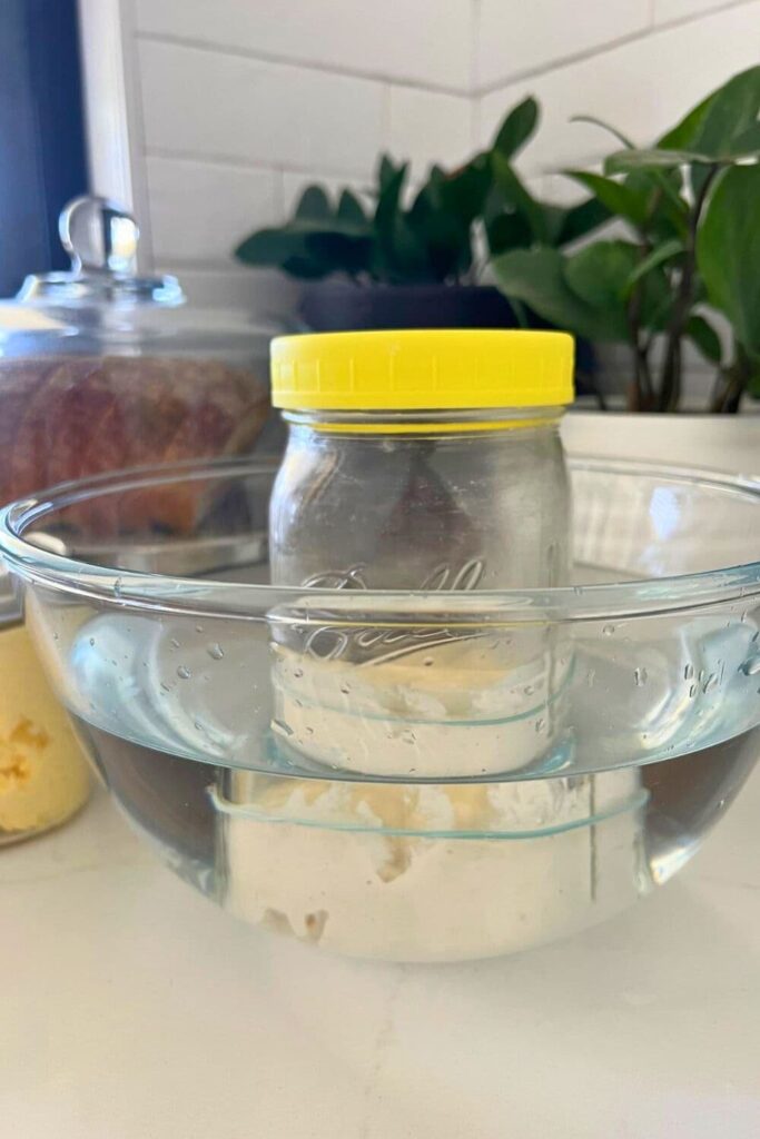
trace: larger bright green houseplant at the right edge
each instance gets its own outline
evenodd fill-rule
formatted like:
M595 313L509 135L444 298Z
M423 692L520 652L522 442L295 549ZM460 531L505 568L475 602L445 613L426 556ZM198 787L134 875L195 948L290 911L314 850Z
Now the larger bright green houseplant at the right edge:
M745 392L760 395L759 114L753 67L648 149L612 131L618 147L603 173L566 173L626 236L574 252L539 241L493 259L510 298L579 336L630 347L630 410L678 408L687 341L716 369L710 410L737 411Z

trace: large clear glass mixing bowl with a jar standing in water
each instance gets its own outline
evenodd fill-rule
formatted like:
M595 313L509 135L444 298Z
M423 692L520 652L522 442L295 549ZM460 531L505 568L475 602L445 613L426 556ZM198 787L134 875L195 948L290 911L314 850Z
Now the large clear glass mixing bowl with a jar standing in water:
M328 950L455 960L692 857L760 745L759 484L577 460L574 585L410 593L269 585L272 478L144 469L1 516L54 688L173 869Z

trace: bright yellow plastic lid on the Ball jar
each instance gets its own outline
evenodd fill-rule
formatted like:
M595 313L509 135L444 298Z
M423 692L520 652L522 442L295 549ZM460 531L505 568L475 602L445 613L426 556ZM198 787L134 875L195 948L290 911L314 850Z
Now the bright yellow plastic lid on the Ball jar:
M279 336L272 403L304 411L540 408L572 403L573 338L517 329Z

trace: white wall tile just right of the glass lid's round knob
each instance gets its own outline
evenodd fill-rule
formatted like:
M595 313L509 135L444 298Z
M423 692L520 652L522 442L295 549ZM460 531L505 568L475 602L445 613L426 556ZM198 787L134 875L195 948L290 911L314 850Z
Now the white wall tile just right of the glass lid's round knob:
M279 215L271 170L240 170L178 158L147 158L154 256L224 263L251 230Z

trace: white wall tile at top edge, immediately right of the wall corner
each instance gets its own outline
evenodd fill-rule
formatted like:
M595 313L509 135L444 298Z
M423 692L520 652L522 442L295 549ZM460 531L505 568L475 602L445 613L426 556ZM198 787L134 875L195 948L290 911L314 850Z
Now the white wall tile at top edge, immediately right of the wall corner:
M612 43L648 22L649 0L481 0L477 88Z

